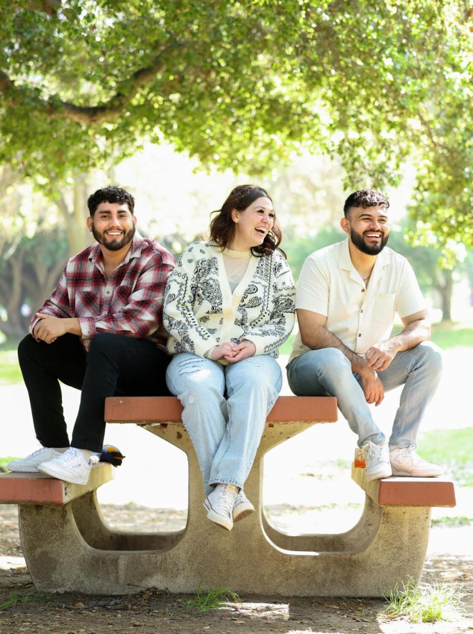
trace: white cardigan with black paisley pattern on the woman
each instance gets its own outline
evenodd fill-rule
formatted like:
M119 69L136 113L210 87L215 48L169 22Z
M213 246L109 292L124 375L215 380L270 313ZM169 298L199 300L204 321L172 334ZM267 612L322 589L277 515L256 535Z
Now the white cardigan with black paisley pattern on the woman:
M252 256L233 294L222 250L194 242L168 278L163 322L170 354L204 356L213 346L245 339L256 354L277 357L294 327L296 290L281 252Z

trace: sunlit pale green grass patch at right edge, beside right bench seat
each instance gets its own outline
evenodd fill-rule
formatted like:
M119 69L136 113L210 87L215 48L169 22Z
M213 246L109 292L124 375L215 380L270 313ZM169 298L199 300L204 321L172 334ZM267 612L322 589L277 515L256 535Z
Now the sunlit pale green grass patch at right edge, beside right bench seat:
M435 429L424 432L419 453L429 462L446 465L460 486L473 486L473 429Z

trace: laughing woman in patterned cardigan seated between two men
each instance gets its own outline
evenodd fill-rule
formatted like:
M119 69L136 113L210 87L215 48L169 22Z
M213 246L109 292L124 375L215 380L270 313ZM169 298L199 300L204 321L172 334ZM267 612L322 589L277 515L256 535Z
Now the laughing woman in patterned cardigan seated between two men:
M275 358L293 330L295 290L265 190L240 185L215 213L210 240L187 247L168 279L163 321L167 385L184 406L207 517L230 531L255 510L243 484L281 390Z

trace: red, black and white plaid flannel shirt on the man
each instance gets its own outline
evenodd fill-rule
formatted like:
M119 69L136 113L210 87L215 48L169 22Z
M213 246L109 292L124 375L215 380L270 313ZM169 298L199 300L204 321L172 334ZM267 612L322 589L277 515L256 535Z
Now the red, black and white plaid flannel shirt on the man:
M127 257L107 278L98 244L66 264L56 290L39 313L78 317L85 350L98 332L152 339L165 349L163 299L174 256L157 242L133 238ZM34 316L30 333L38 322Z

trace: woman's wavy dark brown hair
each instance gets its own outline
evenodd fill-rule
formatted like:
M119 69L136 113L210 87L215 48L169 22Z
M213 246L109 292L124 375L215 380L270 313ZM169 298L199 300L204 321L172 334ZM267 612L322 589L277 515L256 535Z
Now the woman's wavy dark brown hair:
M211 212L217 214L210 223L210 240L215 242L218 247L229 249L235 236L235 223L232 220L232 210L244 211L248 209L252 202L258 198L265 197L272 201L272 198L266 190L257 185L237 185L225 200L221 209ZM274 224L271 231L267 233L261 245L251 247L253 256L265 256L273 253L275 249L279 249L286 257L284 251L279 247L282 240L282 233L274 217Z

